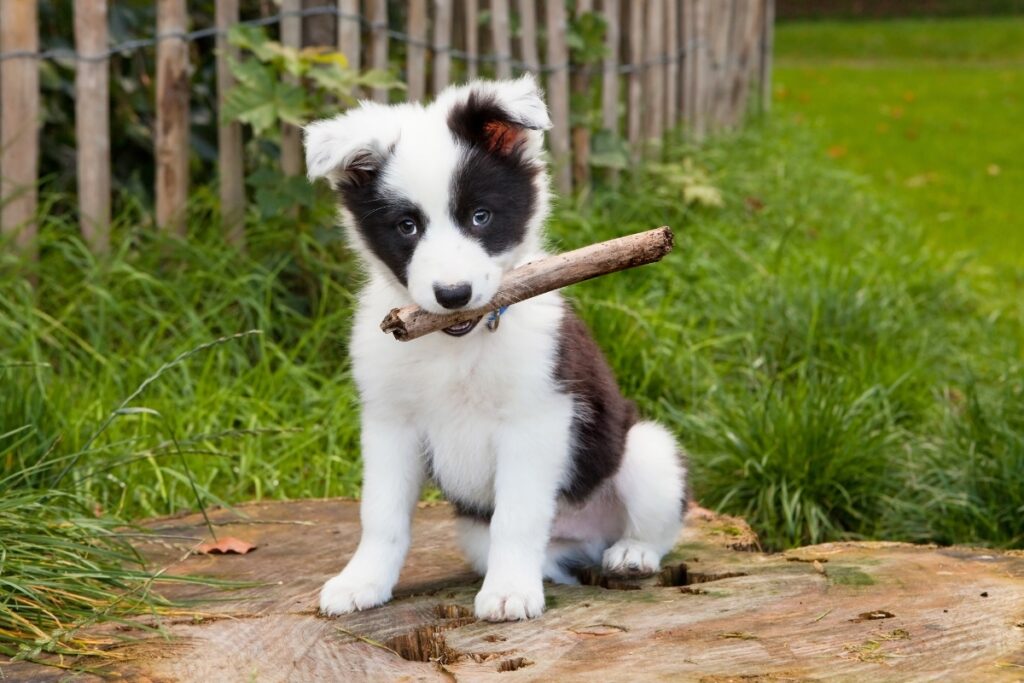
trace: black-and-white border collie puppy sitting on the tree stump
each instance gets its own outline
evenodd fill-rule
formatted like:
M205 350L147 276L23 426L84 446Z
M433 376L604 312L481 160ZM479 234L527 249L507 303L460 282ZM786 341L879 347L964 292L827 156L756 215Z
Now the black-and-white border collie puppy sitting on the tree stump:
M362 102L305 130L309 177L327 178L368 280L350 352L362 403L362 538L324 586L342 614L391 598L413 510L430 477L458 515L483 577L476 615L544 611L543 581L574 566L657 570L685 512L672 434L620 394L584 324L558 293L398 342L379 324L416 303L486 304L502 275L543 257L551 127L530 77L477 81L429 105Z

